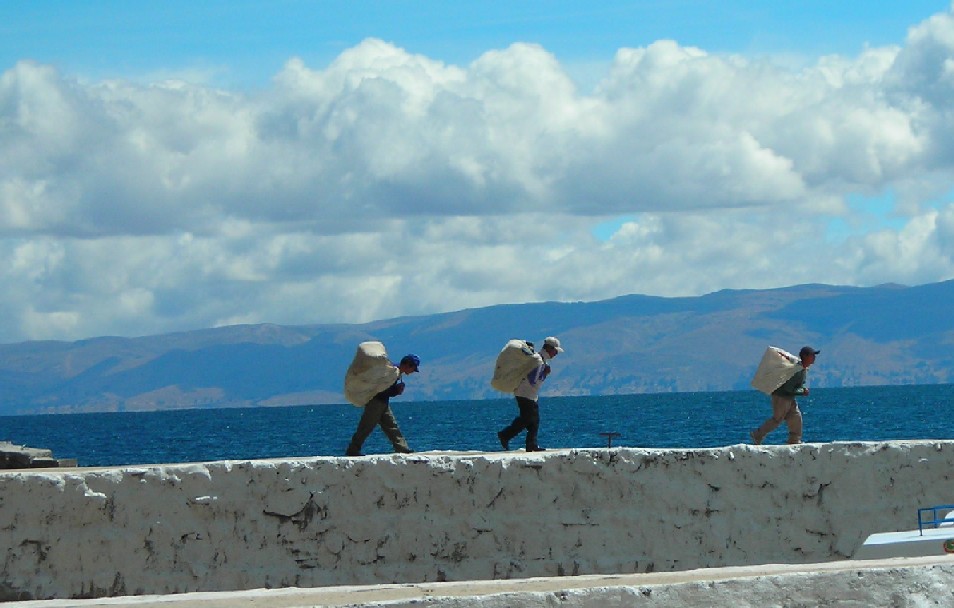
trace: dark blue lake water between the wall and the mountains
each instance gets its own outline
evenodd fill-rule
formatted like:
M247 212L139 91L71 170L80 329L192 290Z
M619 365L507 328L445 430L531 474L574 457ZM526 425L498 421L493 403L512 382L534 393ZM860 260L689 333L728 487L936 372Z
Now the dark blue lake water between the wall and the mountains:
M413 387L409 387L411 393ZM949 415L954 385L813 389L800 398L806 442L954 439ZM410 396L410 395L408 395ZM500 449L497 431L516 415L512 399L391 401L415 451ZM179 410L171 412L0 417L0 440L76 458L81 466L338 456L361 410L350 405ZM748 443L771 414L756 391L609 397L543 397L540 444L715 447ZM783 424L766 444L784 443ZM512 447L522 447L523 435ZM389 453L380 429L365 454Z

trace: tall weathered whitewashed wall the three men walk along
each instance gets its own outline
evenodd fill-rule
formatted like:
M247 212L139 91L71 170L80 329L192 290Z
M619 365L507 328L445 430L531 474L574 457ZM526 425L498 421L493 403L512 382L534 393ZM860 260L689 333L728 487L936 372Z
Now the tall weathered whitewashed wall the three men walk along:
M949 503L954 442L0 473L0 599L849 557Z

